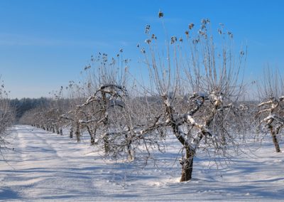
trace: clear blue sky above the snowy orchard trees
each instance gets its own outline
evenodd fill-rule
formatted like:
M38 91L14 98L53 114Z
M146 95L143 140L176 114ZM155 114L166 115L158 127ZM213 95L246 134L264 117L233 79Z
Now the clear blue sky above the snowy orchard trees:
M90 56L136 58L146 24L160 30L159 9L169 34L210 18L234 33L235 46L249 48L246 77L265 65L284 68L284 1L261 0L0 0L0 75L11 97L48 96L77 80ZM133 62L135 66L135 62Z

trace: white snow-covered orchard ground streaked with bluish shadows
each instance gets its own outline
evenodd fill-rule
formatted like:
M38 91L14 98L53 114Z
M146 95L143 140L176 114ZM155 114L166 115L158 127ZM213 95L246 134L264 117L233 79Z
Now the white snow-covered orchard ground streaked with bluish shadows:
M270 139L218 170L197 156L192 181L179 183L173 147L160 154L160 169L139 169L103 160L86 141L25 125L11 130L14 149L1 149L0 201L284 201L284 154Z

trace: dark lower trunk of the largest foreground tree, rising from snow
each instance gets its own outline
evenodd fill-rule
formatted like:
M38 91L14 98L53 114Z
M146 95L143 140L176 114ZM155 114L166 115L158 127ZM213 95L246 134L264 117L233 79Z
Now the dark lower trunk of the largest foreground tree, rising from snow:
M195 155L193 151L186 149L185 159L182 159L182 161L180 161L180 164L182 164L182 176L180 178L180 181L189 181L190 179L192 179L194 156Z

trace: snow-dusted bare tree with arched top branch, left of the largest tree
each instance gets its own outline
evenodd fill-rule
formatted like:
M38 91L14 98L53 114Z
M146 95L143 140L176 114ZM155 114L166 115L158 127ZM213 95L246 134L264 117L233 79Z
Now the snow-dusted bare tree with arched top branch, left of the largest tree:
M80 124L87 129L91 144L103 142L104 151L112 156L117 156L124 147L122 139L129 139L125 119L126 100L129 100L126 90L128 60L122 58L122 53L121 49L117 58L111 60L105 53L91 58L92 65L84 69L87 73L84 92L89 97L76 109L82 115ZM133 154L130 145L131 141L126 146L129 155Z

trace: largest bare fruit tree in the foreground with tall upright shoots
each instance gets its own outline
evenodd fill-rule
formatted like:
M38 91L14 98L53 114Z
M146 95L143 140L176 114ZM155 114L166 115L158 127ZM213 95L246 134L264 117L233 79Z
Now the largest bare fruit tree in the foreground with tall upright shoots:
M163 112L141 133L171 129L171 132L163 131L174 135L185 151L180 159L180 181L192 178L193 159L198 149L208 152L213 149L214 155L226 155L229 146L236 146L243 138L236 125L241 121L237 100L243 90L239 71L244 51L235 61L229 43L232 34L227 32L225 35L222 26L219 30L222 47L217 53L213 36L207 29L209 20L202 20L196 38L191 36L193 26L190 23L190 31L185 32L189 58L183 58L183 39L178 40L175 36L168 40L165 53L160 53L157 37L150 33L150 26L146 26L148 49L141 49L150 75L150 91L163 103Z

